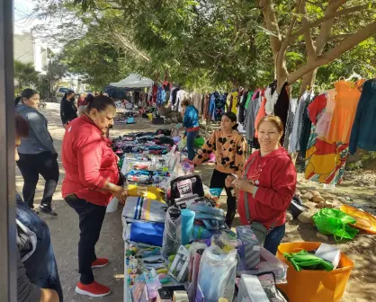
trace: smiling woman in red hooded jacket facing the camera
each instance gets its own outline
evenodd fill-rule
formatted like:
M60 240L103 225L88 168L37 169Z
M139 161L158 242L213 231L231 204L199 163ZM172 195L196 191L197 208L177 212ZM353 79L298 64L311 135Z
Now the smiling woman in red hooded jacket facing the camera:
M290 155L280 145L281 119L266 116L258 123L257 131L260 150L249 156L243 178L228 176L226 184L238 191L241 223L258 222L268 229L264 248L275 254L284 236L286 209L295 193L297 173Z

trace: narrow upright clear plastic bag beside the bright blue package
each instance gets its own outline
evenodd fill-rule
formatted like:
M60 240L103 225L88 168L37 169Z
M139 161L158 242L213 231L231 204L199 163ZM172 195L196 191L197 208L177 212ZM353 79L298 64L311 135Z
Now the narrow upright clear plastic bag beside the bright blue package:
M163 233L162 254L168 258L168 256L177 253L180 244L182 243L182 217L171 218L170 209L176 209L170 207L167 209L165 231ZM179 214L180 215L180 214Z

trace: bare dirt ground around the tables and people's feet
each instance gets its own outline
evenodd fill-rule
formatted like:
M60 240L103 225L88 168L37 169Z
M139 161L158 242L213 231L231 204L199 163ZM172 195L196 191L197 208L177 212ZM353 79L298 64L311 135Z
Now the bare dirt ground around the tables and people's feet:
M55 147L60 153L61 142L64 135L64 129L59 117L59 106L56 103L48 103L47 109L42 111L49 120L49 131L54 138ZM124 127L115 126L112 129L112 138L133 131L148 131L157 128L168 129L168 125L152 125L148 120L137 119L138 123ZM77 295L75 292L77 272L77 243L78 243L78 217L76 212L69 208L61 197L61 182L64 179L64 170L61 164L61 158L58 157L60 166L60 177L58 189L54 195L53 206L58 212L57 218L49 218L40 215L49 225L51 239L55 255L58 261L58 271L64 290L64 300L67 302L89 301L94 298L88 298ZM205 184L209 184L212 173L212 166L202 165L197 171L201 173L201 178ZM298 187L300 190L305 188L316 188L321 192L329 192L338 197L348 197L352 202L359 202L368 205L376 205L376 173L348 173L345 175L344 183L335 189L324 189L314 182L306 182L302 174L299 175ZM41 177L40 177L41 178ZM360 179L357 181L357 179ZM369 180L372 180L371 182ZM16 185L17 190L22 192L22 176L17 170ZM356 186L354 186L356 185ZM44 188L44 182L40 180L35 195L35 204L38 204ZM221 198L226 209L225 197ZM238 218L237 223L238 223ZM103 229L100 240L96 245L98 256L110 258L110 264L102 269L94 271L95 279L112 289L112 294L105 298L98 298L101 301L122 301L123 300L123 242L121 239L121 207L115 213L107 213L104 219ZM287 225L286 235L283 242L292 241L318 241L328 244L336 244L333 236L321 235L314 226L301 224L293 220ZM363 302L374 301L376 297L376 236L361 233L353 241L338 244L340 249L349 256L355 263L351 278L347 284L343 302ZM304 301L302 301L304 302Z

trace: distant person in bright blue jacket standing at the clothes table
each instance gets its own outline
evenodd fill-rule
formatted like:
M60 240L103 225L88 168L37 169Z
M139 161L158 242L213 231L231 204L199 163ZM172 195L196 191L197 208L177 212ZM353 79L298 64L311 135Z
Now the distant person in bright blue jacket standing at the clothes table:
M194 139L199 134L199 111L191 104L189 99L184 99L182 102L184 118L183 126L185 128L184 137L187 138L188 159L194 158Z

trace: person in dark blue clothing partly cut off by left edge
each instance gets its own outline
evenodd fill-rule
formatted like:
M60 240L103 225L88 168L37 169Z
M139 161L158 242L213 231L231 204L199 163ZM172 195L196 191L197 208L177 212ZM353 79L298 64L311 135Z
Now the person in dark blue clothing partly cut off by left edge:
M20 159L17 147L29 136L29 124L15 115L15 161ZM63 290L58 278L58 265L52 250L49 227L16 193L16 261L18 302L62 302Z

